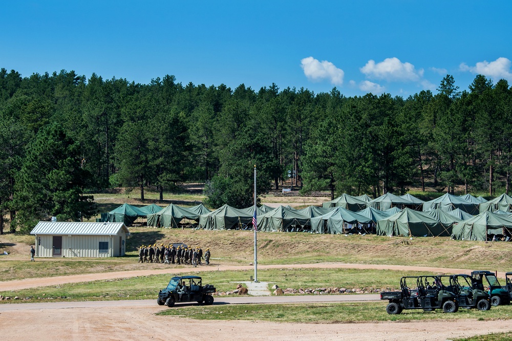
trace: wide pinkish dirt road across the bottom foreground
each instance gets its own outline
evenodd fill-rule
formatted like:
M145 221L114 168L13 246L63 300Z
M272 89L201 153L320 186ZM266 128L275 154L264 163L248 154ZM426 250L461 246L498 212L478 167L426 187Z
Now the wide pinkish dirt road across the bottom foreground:
M0 313L4 339L66 340L446 340L508 332L510 321L424 321L407 323L296 324L261 321L197 321L157 316L167 308L71 308ZM214 308L212 308L214 309ZM219 309L215 308L216 311Z

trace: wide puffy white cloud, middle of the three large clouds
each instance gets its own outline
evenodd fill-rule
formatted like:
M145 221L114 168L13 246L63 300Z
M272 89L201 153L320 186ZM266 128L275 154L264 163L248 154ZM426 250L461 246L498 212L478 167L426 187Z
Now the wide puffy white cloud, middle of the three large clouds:
M375 63L375 60L370 59L359 70L367 77L385 79L387 81L419 81L423 77L423 69L416 70L411 63L402 63L396 57L386 58L379 63Z

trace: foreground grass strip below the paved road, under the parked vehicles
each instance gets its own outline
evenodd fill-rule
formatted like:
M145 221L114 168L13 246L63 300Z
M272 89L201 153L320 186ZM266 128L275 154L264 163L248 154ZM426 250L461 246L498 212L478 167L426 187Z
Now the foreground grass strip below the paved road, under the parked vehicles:
M442 310L404 310L399 315L389 315L385 303L337 303L337 304L254 304L187 306L166 309L159 315L187 317L194 319L249 320L291 323L354 323L381 321L414 321L422 319L465 319L479 320L509 319L512 306L499 306L489 311L459 309L457 313L446 314ZM489 322L492 323L492 322Z

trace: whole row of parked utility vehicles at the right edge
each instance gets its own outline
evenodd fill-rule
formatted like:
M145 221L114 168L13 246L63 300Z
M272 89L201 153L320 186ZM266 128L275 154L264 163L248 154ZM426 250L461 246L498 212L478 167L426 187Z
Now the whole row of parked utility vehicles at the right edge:
M400 291L383 291L381 300L388 300L388 314L400 314L404 309L446 313L460 308L489 310L490 306L510 304L512 272L505 274L506 284L501 286L495 273L473 271L471 275L406 276L400 280Z

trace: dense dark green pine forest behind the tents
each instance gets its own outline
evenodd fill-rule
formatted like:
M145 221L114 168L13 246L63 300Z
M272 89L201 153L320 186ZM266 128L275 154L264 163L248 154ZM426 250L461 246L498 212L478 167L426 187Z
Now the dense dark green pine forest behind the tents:
M75 72L22 77L0 70L0 232L5 219L91 217L93 193L124 186L173 190L206 181L208 204L247 207L287 173L304 193L379 196L410 186L508 193L512 90L477 76L460 92L447 75L439 93L407 99L336 88L314 94L255 91L241 84L183 86L89 79ZM33 225L32 225L33 226Z

